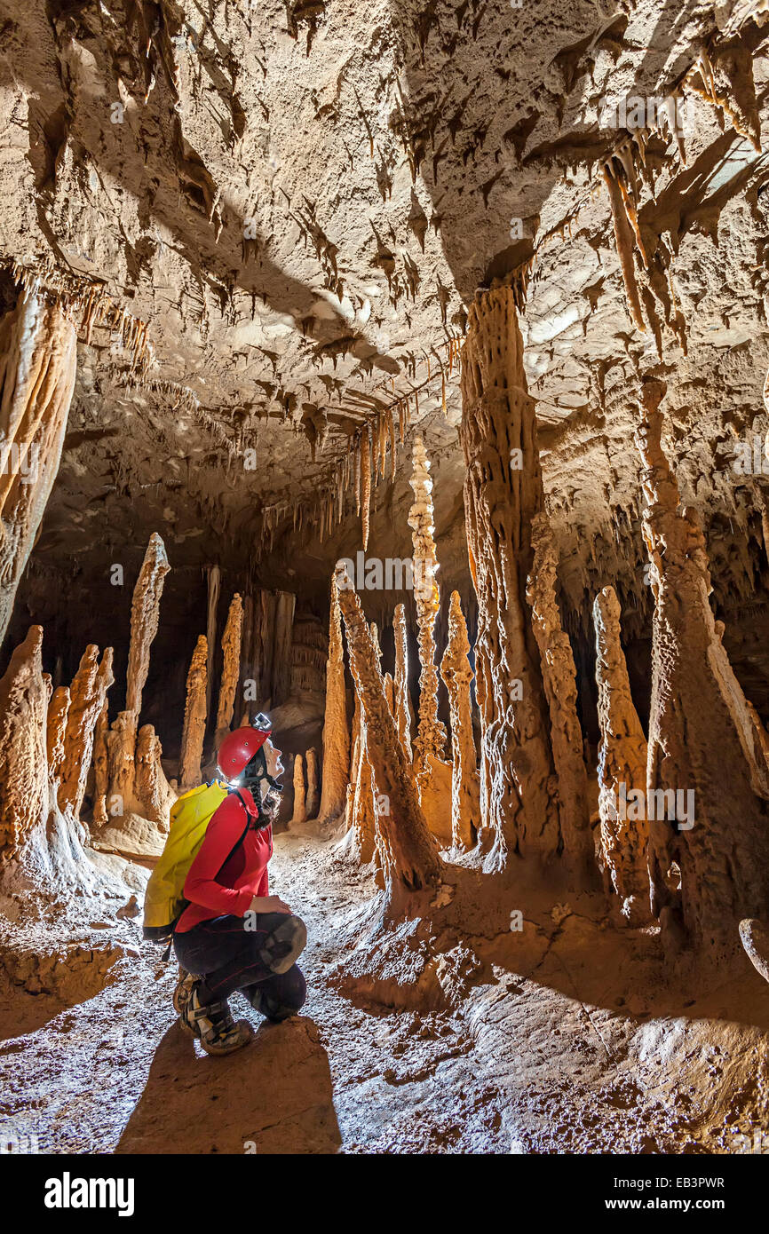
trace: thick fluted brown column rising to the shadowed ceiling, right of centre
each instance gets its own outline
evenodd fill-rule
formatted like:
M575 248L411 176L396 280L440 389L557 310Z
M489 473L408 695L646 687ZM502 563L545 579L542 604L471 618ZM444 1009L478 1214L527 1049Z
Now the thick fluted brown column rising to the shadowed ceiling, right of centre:
M548 708L526 606L542 473L510 288L480 292L470 307L462 402L465 522L478 595L480 838L489 849L486 868L501 869L510 853L544 860L560 848Z

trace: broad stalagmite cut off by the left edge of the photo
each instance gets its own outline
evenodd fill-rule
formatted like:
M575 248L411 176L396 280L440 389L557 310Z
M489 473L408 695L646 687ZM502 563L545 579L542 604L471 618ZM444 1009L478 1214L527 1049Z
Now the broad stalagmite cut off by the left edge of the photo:
M0 680L0 855L12 858L48 811L43 631L31 626Z

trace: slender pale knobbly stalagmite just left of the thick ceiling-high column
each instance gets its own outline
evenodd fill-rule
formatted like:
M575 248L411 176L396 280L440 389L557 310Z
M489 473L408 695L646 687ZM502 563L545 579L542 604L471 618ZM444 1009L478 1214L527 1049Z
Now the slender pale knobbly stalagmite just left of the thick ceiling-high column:
M414 489L414 503L409 511L409 526L414 543L414 600L421 664L420 719L414 743L414 769L418 781L421 776L430 775L431 756L443 759L446 729L438 721L438 668L434 663L434 623L441 598L436 582L438 563L433 539L432 480L421 437L415 438L412 462L414 470L409 482Z

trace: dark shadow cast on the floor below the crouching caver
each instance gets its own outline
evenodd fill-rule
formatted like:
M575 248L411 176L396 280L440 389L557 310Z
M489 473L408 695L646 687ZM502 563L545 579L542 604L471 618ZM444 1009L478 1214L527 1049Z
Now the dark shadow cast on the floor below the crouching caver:
M336 1153L328 1055L315 1023L267 1021L251 1045L210 1058L174 1023L117 1153Z

